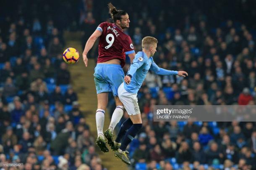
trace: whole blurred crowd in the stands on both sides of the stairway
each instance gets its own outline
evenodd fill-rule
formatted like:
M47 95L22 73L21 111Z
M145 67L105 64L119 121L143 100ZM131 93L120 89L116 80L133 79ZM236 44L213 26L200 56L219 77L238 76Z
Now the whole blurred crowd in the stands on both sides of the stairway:
M61 53L63 30L81 31L84 47L99 23L111 22L108 1L18 2L3 4L0 15L0 162L25 162L26 170L103 169ZM156 104L255 105L256 2L111 2L128 12L125 33L136 52L144 36L154 36L158 66L189 75L148 73L138 92L143 129L129 147L131 168L256 169L255 122L152 120ZM97 60L97 46L89 57ZM109 106L112 112L111 98Z

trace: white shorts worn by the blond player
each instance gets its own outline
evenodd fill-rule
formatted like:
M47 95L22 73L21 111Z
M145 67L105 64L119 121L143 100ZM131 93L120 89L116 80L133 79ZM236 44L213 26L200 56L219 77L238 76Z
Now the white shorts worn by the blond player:
M118 97L120 101L123 103L125 110L129 115L140 114L140 109L138 107L138 98L137 94L129 93L123 87L123 84L120 84L118 88Z

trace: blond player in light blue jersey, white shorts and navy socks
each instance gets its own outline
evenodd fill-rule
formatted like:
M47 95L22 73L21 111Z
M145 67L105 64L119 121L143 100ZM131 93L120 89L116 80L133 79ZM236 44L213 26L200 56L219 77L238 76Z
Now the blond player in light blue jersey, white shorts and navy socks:
M118 97L123 103L129 119L123 122L118 136L114 142L115 156L130 165L131 162L126 155L126 147L133 140L142 127L141 112L138 107L137 93L146 78L149 69L159 75L188 76L185 71L170 71L159 68L153 60L153 55L157 51L157 39L154 37L144 37L142 39L142 51L138 52L131 63L125 83L118 88ZM121 139L123 138L122 142ZM121 143L120 143L121 142Z

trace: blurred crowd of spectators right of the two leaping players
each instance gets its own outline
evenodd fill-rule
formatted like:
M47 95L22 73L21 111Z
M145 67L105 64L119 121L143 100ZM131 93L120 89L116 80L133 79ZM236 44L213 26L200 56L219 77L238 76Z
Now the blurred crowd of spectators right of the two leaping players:
M188 72L187 78L147 74L138 92L143 129L129 147L132 168L256 169L255 122L152 120L156 104L256 104L256 25L249 19L249 15L256 15L256 3L131 0L129 4L113 4L130 16L130 28L125 32L136 52L141 51L144 36L153 36L159 41L154 55L159 67ZM107 13L106 5L97 9ZM90 12L84 23L94 29L100 22L94 24ZM94 15L110 21L104 15ZM97 56L97 51L91 56ZM128 68L126 64L124 71ZM111 111L113 101L112 105Z

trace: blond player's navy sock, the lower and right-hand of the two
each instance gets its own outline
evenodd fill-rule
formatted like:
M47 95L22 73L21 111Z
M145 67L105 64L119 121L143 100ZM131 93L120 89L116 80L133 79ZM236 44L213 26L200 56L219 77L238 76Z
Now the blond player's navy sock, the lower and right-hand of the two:
M141 129L142 124L133 124L131 128L125 133L125 136L123 137L120 150L125 151L126 147L131 143L133 138L136 136L138 131Z

